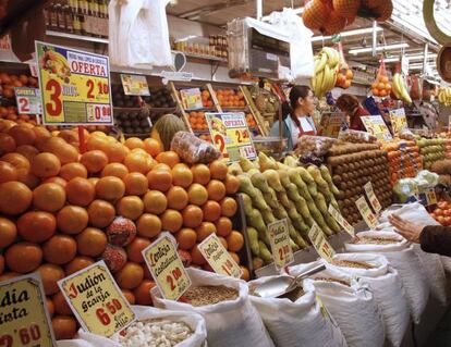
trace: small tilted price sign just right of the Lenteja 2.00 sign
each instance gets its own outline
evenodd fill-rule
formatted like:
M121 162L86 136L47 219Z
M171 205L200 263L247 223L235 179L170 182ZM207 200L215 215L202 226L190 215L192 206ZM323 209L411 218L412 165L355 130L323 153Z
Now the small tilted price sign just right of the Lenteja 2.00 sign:
M236 278L243 275L243 270L240 269L216 234L204 239L197 248L216 273Z

